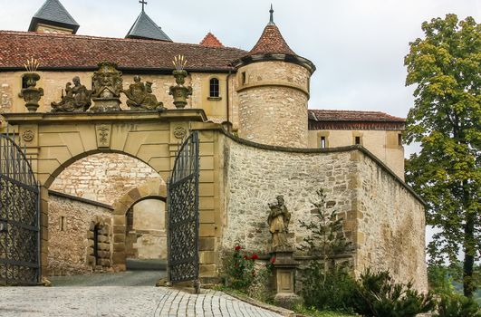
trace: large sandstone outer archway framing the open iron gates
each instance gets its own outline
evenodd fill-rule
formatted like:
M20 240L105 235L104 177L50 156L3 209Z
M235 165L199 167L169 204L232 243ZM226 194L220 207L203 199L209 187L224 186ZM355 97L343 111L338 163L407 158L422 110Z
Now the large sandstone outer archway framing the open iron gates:
M224 192L217 184L223 181L221 125L207 122L203 110L182 109L164 111L119 111L106 113L5 113L5 122L14 131L15 139L22 139L27 156L32 159L35 177L41 186L41 268L48 276L48 188L53 180L73 162L98 153L128 155L153 168L162 179L168 179L177 155L180 139L178 131L199 130L200 185L199 185L199 257L200 275L217 276L216 237L222 235ZM135 190L134 190L135 192ZM135 197L135 193L132 197ZM163 188L159 197L167 196ZM132 201L133 203L133 201ZM129 204L128 204L129 205ZM128 210L125 208L124 213ZM117 227L115 260L123 261L122 241L125 236L125 215ZM119 226L119 225L118 225ZM120 236L119 236L120 235ZM113 245L112 245L113 247ZM117 261L119 262L119 261ZM121 262L120 262L121 263Z

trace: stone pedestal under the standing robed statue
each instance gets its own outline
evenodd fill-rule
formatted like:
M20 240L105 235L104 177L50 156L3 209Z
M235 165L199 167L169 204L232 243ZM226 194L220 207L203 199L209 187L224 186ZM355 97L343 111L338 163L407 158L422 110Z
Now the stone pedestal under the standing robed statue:
M287 309L293 308L297 303L302 303L300 296L295 294L295 271L299 265L293 259L293 251L276 251L274 253L274 303Z

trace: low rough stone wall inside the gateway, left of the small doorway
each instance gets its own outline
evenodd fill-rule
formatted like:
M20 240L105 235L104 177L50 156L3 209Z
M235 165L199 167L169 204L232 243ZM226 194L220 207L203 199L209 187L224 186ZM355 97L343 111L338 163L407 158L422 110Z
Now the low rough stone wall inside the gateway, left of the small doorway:
M111 218L111 208L51 192L48 215L48 272L50 275L85 274L92 270L91 222Z

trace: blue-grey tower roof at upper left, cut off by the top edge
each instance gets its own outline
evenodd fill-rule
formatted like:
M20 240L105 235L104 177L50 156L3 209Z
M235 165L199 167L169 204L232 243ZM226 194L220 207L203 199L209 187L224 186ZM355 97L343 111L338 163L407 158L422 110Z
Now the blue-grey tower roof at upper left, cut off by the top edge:
M73 34L77 33L80 27L59 0L46 0L34 14L28 31L36 31L37 24L50 24L72 29Z

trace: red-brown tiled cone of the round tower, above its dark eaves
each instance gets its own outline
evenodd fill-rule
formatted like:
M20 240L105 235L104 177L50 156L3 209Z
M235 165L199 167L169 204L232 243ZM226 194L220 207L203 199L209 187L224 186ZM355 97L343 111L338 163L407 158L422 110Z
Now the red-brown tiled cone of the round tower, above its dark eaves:
M283 35L275 24L267 24L265 26L263 34L251 52L249 52L249 55L269 53L295 55L289 45L285 43Z

